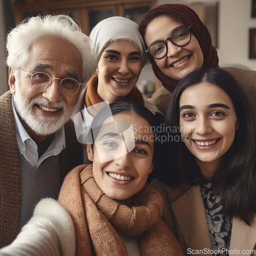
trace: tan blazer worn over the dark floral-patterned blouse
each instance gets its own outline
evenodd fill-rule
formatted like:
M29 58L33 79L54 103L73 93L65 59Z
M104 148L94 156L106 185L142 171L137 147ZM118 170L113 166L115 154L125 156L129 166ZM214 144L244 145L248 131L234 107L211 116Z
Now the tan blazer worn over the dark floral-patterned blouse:
M212 247L200 186L173 189L157 179L151 184L163 196L163 219L176 235L184 254L202 250L197 255L212 255L208 253ZM237 255L239 251L241 255L256 255L256 215L251 226L233 217L229 255Z

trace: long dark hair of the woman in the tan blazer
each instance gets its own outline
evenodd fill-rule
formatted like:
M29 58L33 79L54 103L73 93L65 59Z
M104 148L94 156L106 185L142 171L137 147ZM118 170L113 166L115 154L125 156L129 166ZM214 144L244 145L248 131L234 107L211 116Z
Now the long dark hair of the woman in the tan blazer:
M249 225L256 212L255 113L237 80L228 72L218 68L201 69L188 74L179 82L172 94L166 112L165 125L179 127L179 101L182 92L202 82L215 84L225 91L232 100L236 111L239 128L231 147L224 154L220 166L212 178L212 184L220 195L224 206L223 213L237 216ZM181 136L179 129L176 130L175 135ZM198 184L202 179L202 174L195 157L181 140L169 144L172 144L170 150L175 172L165 173L163 182L166 183L168 179L169 185L179 185L183 182L190 185Z

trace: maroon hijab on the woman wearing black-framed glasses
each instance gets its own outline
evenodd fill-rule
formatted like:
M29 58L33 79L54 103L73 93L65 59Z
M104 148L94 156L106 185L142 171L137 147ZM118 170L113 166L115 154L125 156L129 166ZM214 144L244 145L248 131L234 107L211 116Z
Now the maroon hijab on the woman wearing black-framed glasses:
M155 15L156 12L160 12L161 15L168 13L174 14L175 16L180 17L180 22L184 23L185 26L192 26L191 32L197 38L204 56L202 68L218 67L219 58L216 49L212 46L210 33L206 26L201 22L198 15L192 9L180 4L166 4L157 6L156 8L150 10L150 12L153 15ZM157 67L154 58L151 56L149 56L149 58L157 78L162 82L163 86L168 91L173 92L179 80L164 75Z

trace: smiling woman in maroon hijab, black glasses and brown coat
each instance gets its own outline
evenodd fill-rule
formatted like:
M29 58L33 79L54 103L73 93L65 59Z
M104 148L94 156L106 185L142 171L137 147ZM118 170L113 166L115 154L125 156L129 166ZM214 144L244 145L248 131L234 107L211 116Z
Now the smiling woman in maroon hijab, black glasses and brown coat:
M212 46L208 29L187 6L157 6L140 19L139 31L155 75L164 87L152 96L152 102L162 113L179 80L197 69L219 67L217 50ZM255 108L256 72L233 67L223 69L244 87Z

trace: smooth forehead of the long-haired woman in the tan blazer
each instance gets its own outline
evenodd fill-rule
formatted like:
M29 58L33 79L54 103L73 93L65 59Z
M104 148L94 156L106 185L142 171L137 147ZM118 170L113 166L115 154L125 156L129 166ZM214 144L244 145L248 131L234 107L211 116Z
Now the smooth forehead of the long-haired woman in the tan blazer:
M189 104L193 106L206 106L211 103L225 103L233 106L229 95L216 84L202 82L185 89L180 97L179 106Z

